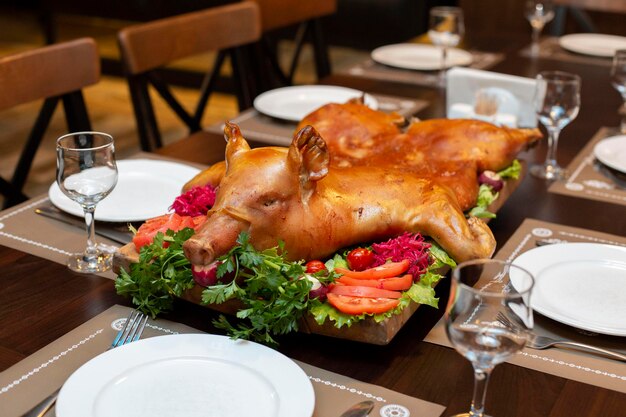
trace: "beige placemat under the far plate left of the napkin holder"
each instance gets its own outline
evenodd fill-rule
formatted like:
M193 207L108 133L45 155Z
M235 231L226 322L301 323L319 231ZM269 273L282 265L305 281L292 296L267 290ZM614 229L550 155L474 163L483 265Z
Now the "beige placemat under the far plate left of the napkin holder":
M504 54L470 51L473 62L469 68L489 69L504 59ZM346 69L344 74L353 77L369 78L382 81L394 81L398 83L433 86L439 84L439 71L413 71L402 68L394 68L379 64L372 59L367 59Z

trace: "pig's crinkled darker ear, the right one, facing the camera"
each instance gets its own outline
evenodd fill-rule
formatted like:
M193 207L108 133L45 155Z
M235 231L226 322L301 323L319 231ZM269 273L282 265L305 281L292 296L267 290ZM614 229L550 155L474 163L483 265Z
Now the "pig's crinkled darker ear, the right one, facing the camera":
M315 181L328 174L330 158L326 142L312 126L300 130L289 147L289 164L298 173L300 186L312 190Z

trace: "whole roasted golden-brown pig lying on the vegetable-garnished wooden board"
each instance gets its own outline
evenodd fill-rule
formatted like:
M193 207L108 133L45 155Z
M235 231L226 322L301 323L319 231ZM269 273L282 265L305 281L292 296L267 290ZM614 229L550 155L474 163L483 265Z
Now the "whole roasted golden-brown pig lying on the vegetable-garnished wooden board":
M474 120L403 130L402 121L359 103L329 104L301 122L289 148L257 149L227 123L226 161L185 186L218 187L186 256L210 264L243 230L257 249L284 241L294 260L404 231L432 237L458 262L491 256L491 231L463 212L475 205L478 173L508 166L539 131Z

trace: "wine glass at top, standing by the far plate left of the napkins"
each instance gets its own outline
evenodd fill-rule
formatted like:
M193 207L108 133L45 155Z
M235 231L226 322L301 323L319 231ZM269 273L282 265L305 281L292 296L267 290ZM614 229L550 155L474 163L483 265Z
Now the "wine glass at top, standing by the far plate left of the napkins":
M448 48L459 44L465 25L463 10L460 7L433 7L430 9L428 37L431 42L441 48L441 66L439 70L439 84L445 85Z

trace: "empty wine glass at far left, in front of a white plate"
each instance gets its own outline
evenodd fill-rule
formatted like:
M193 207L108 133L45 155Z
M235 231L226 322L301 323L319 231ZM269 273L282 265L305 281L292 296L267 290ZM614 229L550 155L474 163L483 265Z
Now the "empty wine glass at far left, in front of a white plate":
M67 266L76 272L111 269L113 254L96 245L94 212L117 183L113 137L100 132L77 132L57 139L57 184L70 199L81 205L87 226L87 248L71 254Z

